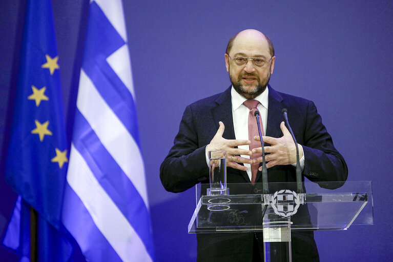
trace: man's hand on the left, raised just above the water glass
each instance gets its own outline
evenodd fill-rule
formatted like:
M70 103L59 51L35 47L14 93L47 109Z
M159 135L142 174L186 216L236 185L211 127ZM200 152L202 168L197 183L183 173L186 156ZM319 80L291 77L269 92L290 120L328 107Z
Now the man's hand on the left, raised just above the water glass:
M225 129L224 124L220 121L219 125L220 127L218 128L217 133L214 135L210 144L206 147L206 151L226 151L226 166L246 171L246 167L237 163L251 164L251 159L241 157L240 155L252 155L252 153L250 150L244 150L234 147L250 145L250 140L225 139L222 137Z

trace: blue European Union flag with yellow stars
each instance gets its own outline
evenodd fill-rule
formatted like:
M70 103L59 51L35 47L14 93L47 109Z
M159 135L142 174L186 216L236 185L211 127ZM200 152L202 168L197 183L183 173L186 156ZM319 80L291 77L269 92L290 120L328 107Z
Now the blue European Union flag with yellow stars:
M6 180L24 203L38 213L36 255L39 261L68 260L72 252L61 224L68 149L59 69L51 2L29 0ZM22 208L22 222L24 214ZM29 258L29 249L25 247L28 241L24 238L29 234L24 232L25 228L22 223L21 260Z

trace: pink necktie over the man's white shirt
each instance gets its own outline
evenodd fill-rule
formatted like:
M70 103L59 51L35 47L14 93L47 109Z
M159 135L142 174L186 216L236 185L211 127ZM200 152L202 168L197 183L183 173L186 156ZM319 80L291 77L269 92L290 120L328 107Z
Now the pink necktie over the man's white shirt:
M257 119L255 119L255 116L254 116L255 111L258 110L257 106L259 104L259 101L255 100L255 99L249 99L249 100L245 100L243 104L244 104L244 106L246 106L247 108L250 109L250 112L249 112L249 140L251 141L250 150L253 150L254 148L261 147L261 143L259 141L254 140L254 136L259 136ZM259 123L261 124L261 133L262 133L262 135L264 135L261 115L259 115ZM251 156L251 159L258 158L261 156L262 156L262 153L253 154ZM257 177L258 167L259 167L259 163L251 165L251 173L252 173L251 183L253 185L255 183L255 178Z

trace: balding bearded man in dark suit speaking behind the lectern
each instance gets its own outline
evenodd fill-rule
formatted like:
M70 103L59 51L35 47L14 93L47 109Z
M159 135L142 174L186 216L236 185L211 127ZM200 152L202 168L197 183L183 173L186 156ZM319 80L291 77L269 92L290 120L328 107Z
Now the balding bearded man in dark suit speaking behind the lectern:
M226 151L227 183L262 182L261 147L252 146L259 138L249 137L247 125L249 104L255 100L266 134L262 138L268 182L296 181L296 148L283 122L283 108L291 116L299 143L302 179L346 180L345 161L314 103L268 85L275 59L273 43L259 31L244 30L230 39L225 65L232 86L185 109L174 146L160 167L166 190L181 192L200 182L209 183L207 152L215 150ZM260 233L198 234L197 241L199 261L263 261ZM292 253L293 261L319 261L313 232L293 232Z

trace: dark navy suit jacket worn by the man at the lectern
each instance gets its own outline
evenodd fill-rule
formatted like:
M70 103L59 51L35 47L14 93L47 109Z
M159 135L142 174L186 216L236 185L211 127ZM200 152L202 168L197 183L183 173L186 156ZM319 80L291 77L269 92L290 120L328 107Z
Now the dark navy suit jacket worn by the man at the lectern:
M303 146L305 163L302 172L303 179L307 177L313 182L345 181L347 166L344 158L335 149L332 137L322 124L321 116L313 102L280 93L268 86L268 115L266 136L281 137L280 123L284 120L282 109L288 110L289 122L297 142ZM182 192L202 182L209 183L209 168L206 165L205 147L216 134L218 122L225 125L223 137L235 139L233 127L231 87L223 93L201 99L189 105L180 122L179 132L175 137L174 146L169 151L160 167L160 178L164 188L170 192ZM275 166L268 169L268 182L295 182L295 168ZM261 181L258 172L256 182ZM227 169L227 183L251 183L245 171L233 168ZM323 183L321 183L323 186ZM315 249L312 232L304 233L307 243L294 240L303 253ZM303 233L299 235L303 238ZM198 234L198 260L209 260L219 254L227 253L225 261L251 261L253 249L253 234ZM295 243L296 242L296 243ZM203 258L202 256L205 255ZM316 254L318 256L318 253ZM219 256L218 256L219 257ZM216 257L217 258L217 257ZM216 259L215 258L215 259ZM222 257L221 257L222 258ZM220 258L218 260L220 261ZM294 261L296 261L294 256ZM302 259L302 261L307 261ZM314 261L310 259L309 261Z

